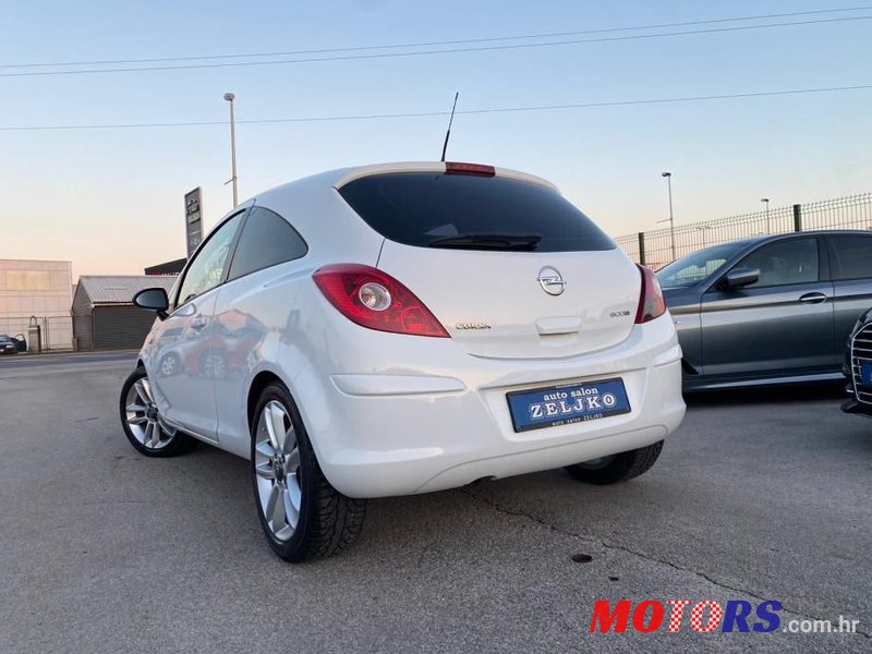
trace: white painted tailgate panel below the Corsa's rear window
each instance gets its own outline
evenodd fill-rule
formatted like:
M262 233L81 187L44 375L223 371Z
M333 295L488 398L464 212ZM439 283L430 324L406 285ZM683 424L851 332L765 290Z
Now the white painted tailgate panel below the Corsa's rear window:
M402 281L470 354L543 359L623 341L639 304L639 271L619 251L422 250L387 241L378 267ZM538 281L549 267L566 286Z

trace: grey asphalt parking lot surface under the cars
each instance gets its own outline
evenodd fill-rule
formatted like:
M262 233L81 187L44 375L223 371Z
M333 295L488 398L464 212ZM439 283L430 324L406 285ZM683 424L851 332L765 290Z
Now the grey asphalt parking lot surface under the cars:
M353 549L292 566L247 462L126 443L132 364L0 360L0 652L872 651L872 421L837 387L693 398L623 485L549 471L374 500ZM590 633L620 598L775 600L782 628ZM782 630L839 616L861 632Z

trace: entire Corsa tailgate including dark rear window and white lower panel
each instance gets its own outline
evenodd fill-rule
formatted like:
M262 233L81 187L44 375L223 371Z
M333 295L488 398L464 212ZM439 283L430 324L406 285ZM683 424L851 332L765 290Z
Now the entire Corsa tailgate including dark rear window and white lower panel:
M537 178L445 166L378 168L337 187L386 238L378 267L458 343L479 356L566 358L630 335L639 271L590 218Z

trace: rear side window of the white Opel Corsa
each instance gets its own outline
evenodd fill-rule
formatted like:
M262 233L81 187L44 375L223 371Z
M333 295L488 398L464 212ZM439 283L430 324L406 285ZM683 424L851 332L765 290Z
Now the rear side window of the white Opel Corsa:
M228 279L302 257L308 247L278 214L254 207L242 228Z

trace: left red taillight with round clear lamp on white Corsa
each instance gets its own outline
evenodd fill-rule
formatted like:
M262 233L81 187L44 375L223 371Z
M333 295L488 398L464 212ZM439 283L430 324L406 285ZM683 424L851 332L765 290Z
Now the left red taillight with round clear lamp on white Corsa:
M312 275L339 313L362 327L448 338L424 303L387 272L360 264L332 264Z

